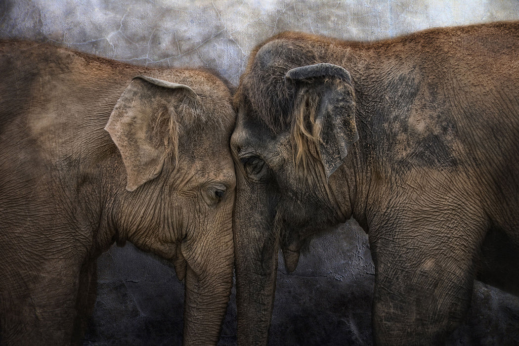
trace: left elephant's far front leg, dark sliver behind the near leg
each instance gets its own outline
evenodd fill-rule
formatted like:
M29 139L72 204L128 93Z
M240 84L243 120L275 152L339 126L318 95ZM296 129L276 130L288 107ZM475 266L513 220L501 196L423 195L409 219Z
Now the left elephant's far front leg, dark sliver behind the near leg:
M90 315L93 312L97 295L97 259L87 261L79 273L76 311L72 344L82 344Z

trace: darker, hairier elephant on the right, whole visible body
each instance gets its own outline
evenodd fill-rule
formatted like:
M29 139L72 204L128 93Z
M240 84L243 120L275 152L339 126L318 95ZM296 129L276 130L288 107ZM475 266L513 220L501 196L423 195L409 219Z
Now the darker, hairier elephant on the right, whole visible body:
M298 32L234 96L238 343L268 340L278 252L349 218L375 266L375 344L438 344L474 279L519 294L519 22L371 42Z

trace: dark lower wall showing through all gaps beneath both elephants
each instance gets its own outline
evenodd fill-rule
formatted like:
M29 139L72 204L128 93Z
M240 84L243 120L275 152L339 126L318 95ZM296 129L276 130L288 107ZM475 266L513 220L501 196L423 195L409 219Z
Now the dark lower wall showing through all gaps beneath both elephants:
M314 239L295 272L279 257L270 345L370 345L374 267L350 220ZM476 282L467 323L448 345L519 344L519 298ZM165 261L131 244L99 259L98 299L85 345L182 343L183 283ZM236 344L233 288L219 345Z

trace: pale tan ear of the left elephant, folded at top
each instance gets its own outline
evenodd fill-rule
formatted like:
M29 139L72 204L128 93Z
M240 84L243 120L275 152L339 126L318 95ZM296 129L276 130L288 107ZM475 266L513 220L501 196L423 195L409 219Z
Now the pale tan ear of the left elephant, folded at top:
M105 130L122 156L128 191L156 178L176 154L179 105L197 94L188 86L136 76L117 101Z

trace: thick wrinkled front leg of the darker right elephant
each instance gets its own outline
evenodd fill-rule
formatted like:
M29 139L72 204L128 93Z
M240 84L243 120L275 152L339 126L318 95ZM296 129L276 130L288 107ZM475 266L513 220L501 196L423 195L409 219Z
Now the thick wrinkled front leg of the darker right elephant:
M443 220L436 224L424 218L419 228L418 222L386 224L373 230L373 237L370 230L376 344L440 344L465 319L481 227L463 225L453 214L434 217Z

